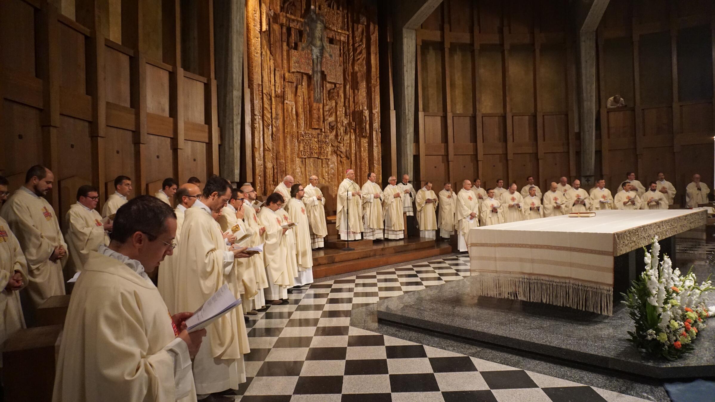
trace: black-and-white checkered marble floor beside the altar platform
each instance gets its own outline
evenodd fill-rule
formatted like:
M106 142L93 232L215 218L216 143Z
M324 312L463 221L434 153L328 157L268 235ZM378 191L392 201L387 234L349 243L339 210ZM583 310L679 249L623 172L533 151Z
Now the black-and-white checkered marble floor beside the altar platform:
M469 275L455 256L312 284L252 316L241 396L220 401L644 401L350 326L352 308Z

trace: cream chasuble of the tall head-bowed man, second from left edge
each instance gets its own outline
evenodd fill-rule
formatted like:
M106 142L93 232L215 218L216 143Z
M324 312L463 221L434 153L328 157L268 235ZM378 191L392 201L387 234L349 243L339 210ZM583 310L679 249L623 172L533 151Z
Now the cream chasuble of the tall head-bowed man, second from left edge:
M69 249L49 202L21 187L2 206L0 216L15 233L27 261L29 281L24 291L30 305L25 308L34 311L50 296L63 295L62 265L69 258ZM59 261L49 261L56 246L62 246L68 255Z

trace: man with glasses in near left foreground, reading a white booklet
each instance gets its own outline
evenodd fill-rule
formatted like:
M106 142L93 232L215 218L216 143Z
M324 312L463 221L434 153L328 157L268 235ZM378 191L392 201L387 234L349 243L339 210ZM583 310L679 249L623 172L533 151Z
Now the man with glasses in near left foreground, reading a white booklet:
M191 359L206 330L169 313L147 273L171 255L176 218L152 196L124 204L109 247L90 251L72 291L54 402L196 401Z

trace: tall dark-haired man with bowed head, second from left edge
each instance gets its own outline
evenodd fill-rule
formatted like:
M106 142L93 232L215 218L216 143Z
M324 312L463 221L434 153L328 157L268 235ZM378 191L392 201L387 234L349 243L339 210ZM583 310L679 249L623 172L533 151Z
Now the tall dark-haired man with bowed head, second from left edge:
M62 266L67 245L56 213L44 199L53 183L54 174L49 169L32 166L25 175L25 184L0 209L0 217L17 236L27 261L28 283L22 291L29 301L23 304L23 311L30 325L37 307L50 296L64 294Z

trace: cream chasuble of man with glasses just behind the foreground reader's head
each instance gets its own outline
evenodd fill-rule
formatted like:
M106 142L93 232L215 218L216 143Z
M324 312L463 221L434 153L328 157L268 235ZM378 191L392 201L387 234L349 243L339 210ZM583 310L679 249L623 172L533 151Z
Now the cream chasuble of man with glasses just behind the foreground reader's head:
M97 251L100 244L109 246L109 236L104 231L102 216L95 209L74 203L64 216L64 240L67 243L65 279L82 271L89 251Z

